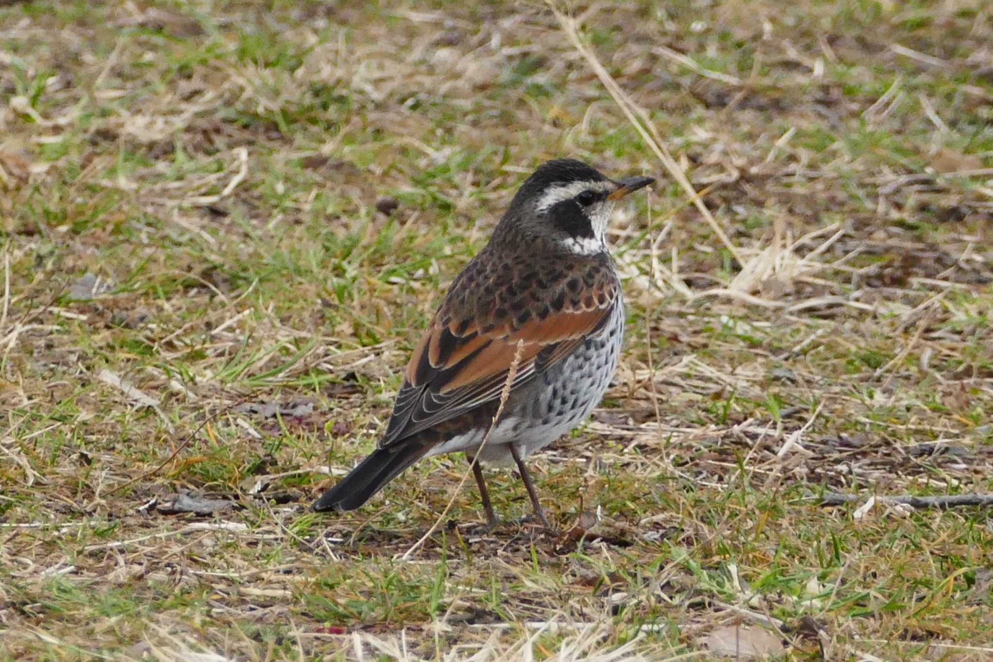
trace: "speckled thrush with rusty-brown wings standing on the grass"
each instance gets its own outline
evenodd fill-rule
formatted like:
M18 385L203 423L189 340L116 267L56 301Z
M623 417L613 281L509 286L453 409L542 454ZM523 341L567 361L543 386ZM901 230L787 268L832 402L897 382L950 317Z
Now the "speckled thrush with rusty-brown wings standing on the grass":
M612 180L574 159L541 164L452 281L375 451L311 509L354 510L411 464L461 452L488 527L499 520L481 463L512 462L552 530L524 461L581 424L610 385L625 308L607 226L619 199L653 182Z

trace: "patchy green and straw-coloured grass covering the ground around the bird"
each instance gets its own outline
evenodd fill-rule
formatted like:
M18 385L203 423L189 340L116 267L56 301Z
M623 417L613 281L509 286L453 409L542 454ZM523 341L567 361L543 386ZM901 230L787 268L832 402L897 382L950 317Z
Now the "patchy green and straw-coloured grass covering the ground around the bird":
M988 509L863 507L993 491L988 11L570 11L730 248L544 5L0 3L0 655L989 658ZM460 458L307 512L556 155L660 177L616 383L532 462L569 533L466 488L404 560Z

